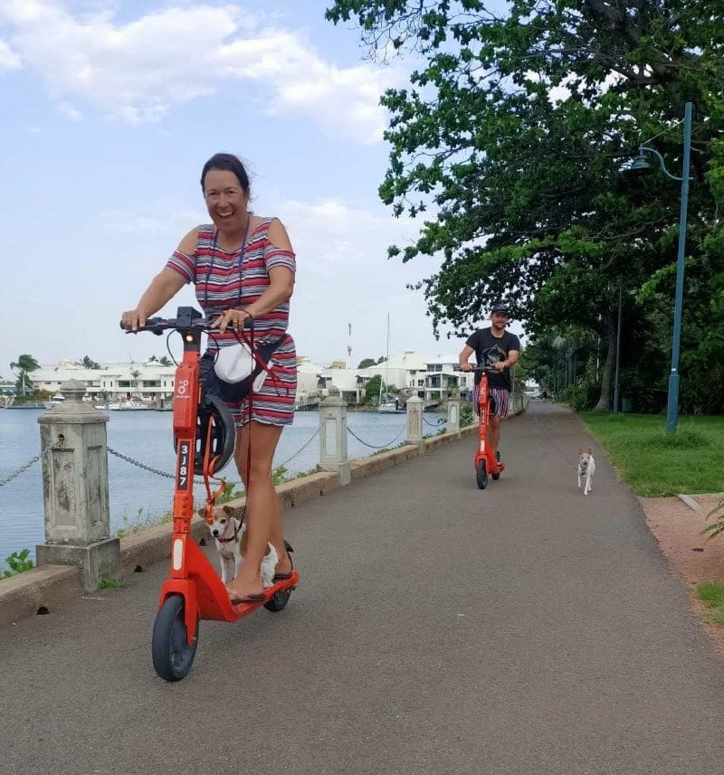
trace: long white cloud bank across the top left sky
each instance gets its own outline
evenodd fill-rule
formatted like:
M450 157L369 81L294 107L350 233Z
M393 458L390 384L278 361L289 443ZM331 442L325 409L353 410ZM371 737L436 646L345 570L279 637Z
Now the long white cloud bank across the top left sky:
M380 139L379 95L392 68L324 61L309 40L240 5L184 5L114 21L111 10L72 15L55 0L3 0L0 68L40 73L53 99L85 103L130 124L157 121L175 105L233 80L264 90L264 109L307 115L359 142Z

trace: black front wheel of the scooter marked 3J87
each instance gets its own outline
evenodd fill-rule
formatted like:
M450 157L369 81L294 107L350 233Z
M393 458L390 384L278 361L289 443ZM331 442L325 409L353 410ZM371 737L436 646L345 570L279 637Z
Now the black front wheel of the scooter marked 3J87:
M196 637L191 643L186 635L184 598L181 595L169 595L158 609L151 640L153 666L164 681L180 681L194 664L198 646L198 620Z

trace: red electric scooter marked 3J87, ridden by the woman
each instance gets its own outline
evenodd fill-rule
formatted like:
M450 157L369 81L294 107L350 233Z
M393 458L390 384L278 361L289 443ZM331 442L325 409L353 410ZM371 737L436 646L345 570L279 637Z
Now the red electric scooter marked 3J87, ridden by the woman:
M233 605L224 582L191 534L194 475L204 477L210 515L214 499L226 487L215 474L233 457L235 439L231 412L218 396L205 391L200 380L201 335L215 330L211 323L193 307L178 307L176 318L151 317L136 332L128 332L152 331L160 335L170 330L177 331L184 340L184 356L174 383L176 490L171 575L161 588L151 643L153 666L166 681L178 681L191 669L200 619L236 621L260 606L280 611L299 581L299 573L292 570L289 578L264 590L264 600ZM214 493L210 478L221 482Z

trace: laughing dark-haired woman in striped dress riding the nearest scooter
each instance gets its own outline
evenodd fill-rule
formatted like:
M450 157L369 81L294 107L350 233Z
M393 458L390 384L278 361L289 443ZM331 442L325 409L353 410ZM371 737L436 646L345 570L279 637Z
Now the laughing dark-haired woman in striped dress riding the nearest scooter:
M186 234L138 305L121 319L136 330L193 282L199 304L218 328L205 356L212 362L220 349L239 343L246 318L254 321L254 349L269 355L266 379L253 396L226 402L237 425L234 458L248 507L246 560L227 586L233 601L252 601L262 595L260 568L268 542L280 558L277 576L291 572L271 461L282 428L294 417L297 354L287 326L296 259L281 222L248 209L249 177L236 156L212 156L202 170L201 189L212 223Z

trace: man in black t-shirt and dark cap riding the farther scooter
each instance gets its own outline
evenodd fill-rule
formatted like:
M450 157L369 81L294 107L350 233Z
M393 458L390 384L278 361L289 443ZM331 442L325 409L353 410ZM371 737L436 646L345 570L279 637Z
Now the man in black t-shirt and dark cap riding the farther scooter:
M495 369L498 373L488 377L491 393L495 397L495 414L491 418L490 444L495 453L500 441L500 422L508 415L508 398L510 396L510 367L518 363L520 340L518 336L507 331L508 307L496 304L491 309L491 326L479 328L468 337L460 354L460 368L463 372L472 372L475 368L468 363L468 358L474 353L479 366ZM481 373L475 374L475 387L472 391L472 405L478 411L478 395L480 393ZM500 468L504 468L500 464Z

